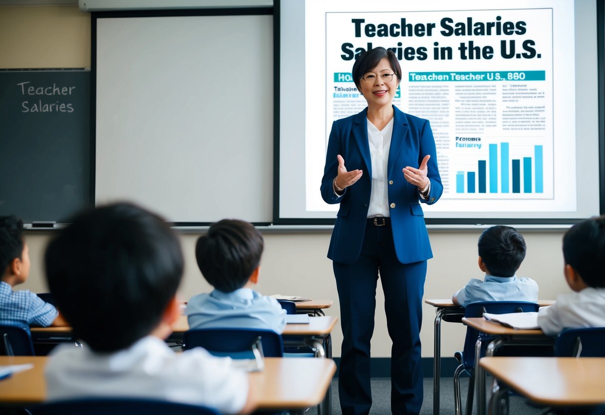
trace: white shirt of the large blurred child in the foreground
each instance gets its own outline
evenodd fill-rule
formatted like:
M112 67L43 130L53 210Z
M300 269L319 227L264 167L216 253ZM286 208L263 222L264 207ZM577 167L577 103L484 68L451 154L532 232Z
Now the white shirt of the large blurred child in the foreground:
M175 353L154 336L108 354L62 344L45 368L47 399L149 398L235 414L246 404L248 377L231 362L201 347Z

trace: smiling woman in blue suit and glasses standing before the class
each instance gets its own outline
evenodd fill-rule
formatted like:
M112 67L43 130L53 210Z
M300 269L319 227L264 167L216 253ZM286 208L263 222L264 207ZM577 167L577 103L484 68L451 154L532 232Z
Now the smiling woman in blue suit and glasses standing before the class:
M353 79L368 106L332 124L321 181L324 200L340 203L328 250L341 307L340 403L344 415L370 411L370 339L380 275L393 341L391 411L418 414L422 295L433 257L419 203L433 204L443 192L435 142L427 120L393 106L401 81L393 51L379 47L361 54Z

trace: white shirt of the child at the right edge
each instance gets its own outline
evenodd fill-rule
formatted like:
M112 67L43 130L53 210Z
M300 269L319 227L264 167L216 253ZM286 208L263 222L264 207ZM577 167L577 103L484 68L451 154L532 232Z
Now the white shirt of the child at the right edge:
M605 327L605 288L587 287L558 296L555 304L538 311L538 325L545 335L564 328Z

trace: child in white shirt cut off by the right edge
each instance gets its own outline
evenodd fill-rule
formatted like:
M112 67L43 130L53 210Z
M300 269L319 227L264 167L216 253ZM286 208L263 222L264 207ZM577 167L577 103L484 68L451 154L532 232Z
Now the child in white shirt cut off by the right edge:
M574 292L538 312L546 335L564 328L605 327L605 216L575 224L563 237L564 275Z

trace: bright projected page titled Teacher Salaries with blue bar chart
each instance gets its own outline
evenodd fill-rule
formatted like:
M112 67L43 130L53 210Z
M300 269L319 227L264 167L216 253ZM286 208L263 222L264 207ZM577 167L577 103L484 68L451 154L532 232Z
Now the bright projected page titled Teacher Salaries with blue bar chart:
M350 71L378 46L402 67L394 105L431 122L444 191L427 212L575 211L574 4L439 5L306 3L307 211L338 208L318 166L333 120L365 108Z

